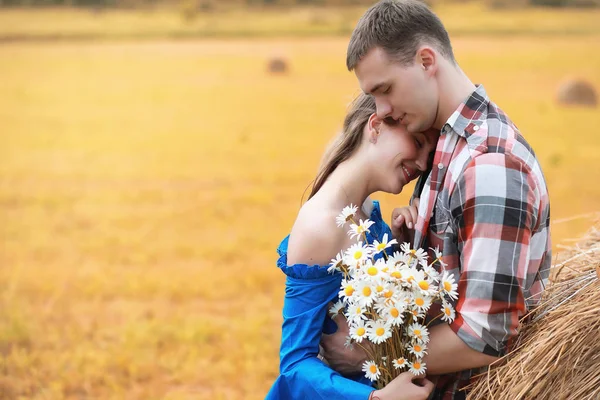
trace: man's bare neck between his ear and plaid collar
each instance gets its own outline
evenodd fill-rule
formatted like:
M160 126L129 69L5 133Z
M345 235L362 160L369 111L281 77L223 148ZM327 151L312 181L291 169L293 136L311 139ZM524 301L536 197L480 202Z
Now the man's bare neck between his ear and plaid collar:
M459 66L447 63L441 68L438 76L440 82L440 99L438 115L434 123L436 129L442 129L446 121L476 89Z

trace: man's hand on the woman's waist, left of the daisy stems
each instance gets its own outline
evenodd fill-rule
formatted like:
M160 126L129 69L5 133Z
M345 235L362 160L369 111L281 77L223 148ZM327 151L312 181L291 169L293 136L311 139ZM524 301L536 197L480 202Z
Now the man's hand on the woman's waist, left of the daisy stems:
M329 366L344 376L361 373L362 365L367 360L367 353L357 344L349 349L345 346L346 337L349 335L346 318L338 314L333 317L338 329L331 335L321 336L322 356Z

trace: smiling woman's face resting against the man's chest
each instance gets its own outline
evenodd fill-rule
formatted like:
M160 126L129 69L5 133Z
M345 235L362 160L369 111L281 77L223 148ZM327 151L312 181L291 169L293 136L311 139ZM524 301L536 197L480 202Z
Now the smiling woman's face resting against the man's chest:
M371 117L369 124L379 132L371 146L375 182L379 190L398 194L427 170L429 154L435 150L439 133L433 129L409 133L392 118Z

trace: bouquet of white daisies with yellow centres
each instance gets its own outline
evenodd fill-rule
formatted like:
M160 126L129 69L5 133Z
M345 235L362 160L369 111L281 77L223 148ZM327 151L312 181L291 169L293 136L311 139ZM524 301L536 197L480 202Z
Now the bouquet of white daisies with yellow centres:
M357 222L356 212L357 207L350 205L337 217L338 226L350 225L348 234L357 243L331 260L328 271L341 272L344 277L340 301L330 313L346 317L350 328L347 345L366 351L368 361L362 369L367 378L383 387L407 369L415 375L425 373L422 359L429 342L425 316L438 302L441 312L434 319L452 322L455 311L451 301L457 299L457 284L452 275L434 268L442 265L437 249L432 249L436 259L429 263L427 252L411 249L409 243L390 254L397 241L389 240L387 234L368 245L366 233L374 222Z

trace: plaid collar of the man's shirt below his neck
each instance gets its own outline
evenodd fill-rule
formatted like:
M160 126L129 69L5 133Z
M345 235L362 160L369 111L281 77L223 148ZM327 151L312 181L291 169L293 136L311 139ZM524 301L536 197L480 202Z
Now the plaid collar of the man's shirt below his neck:
M454 131L457 135L468 140L473 133L479 130L479 127L487 118L489 102L490 99L483 85L476 85L475 90L448 118L441 134Z

